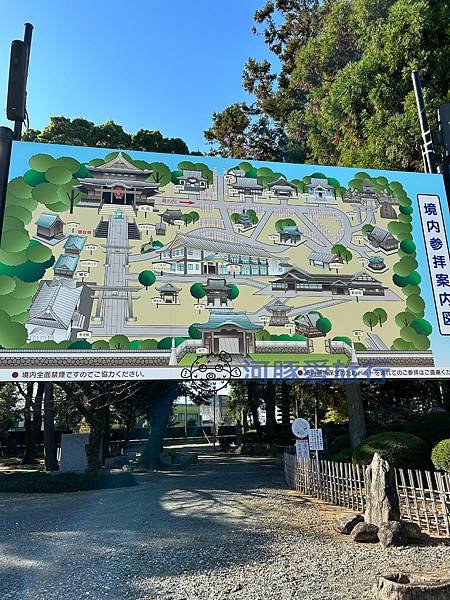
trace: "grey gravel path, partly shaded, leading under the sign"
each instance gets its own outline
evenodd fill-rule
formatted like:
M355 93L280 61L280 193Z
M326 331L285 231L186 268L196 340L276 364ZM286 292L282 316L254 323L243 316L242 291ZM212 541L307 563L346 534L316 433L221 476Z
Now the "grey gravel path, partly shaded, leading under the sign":
M450 572L443 542L382 550L326 533L334 509L284 489L273 459L204 456L140 482L1 494L2 600L361 600L381 572Z

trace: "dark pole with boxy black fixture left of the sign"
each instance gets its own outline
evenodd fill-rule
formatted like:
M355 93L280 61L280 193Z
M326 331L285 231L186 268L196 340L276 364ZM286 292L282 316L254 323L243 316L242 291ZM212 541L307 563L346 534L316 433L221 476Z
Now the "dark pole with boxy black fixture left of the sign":
M9 127L0 127L0 242L5 215L12 142L21 139L22 125L27 115L26 90L32 34L33 25L25 23L23 40L14 40L11 43L6 117L9 121L14 121L14 131Z

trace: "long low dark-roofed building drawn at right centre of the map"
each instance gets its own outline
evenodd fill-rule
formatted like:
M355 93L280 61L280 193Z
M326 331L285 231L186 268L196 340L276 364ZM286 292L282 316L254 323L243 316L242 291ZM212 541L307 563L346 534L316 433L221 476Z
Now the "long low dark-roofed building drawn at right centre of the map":
M272 290L281 292L311 292L317 295L347 295L352 289L362 289L364 296L384 296L385 287L374 277L360 271L354 275L308 273L292 268L272 281Z

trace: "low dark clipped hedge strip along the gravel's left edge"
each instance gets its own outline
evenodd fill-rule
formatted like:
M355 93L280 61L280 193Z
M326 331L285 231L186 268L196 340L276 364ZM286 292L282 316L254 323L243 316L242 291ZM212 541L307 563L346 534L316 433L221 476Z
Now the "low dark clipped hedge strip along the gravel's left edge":
M85 490L106 490L137 485L131 473L2 473L0 492L59 494Z

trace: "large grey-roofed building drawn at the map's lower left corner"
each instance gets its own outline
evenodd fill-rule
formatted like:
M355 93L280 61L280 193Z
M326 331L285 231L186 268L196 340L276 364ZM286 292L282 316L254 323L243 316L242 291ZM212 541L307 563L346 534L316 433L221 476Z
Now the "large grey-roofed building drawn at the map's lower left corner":
M85 316L79 312L82 291L82 287L69 287L57 280L44 281L25 323L28 341L62 342L70 339L75 329L83 329Z

